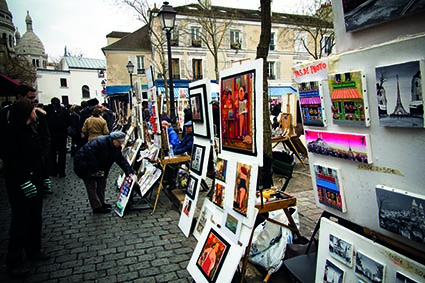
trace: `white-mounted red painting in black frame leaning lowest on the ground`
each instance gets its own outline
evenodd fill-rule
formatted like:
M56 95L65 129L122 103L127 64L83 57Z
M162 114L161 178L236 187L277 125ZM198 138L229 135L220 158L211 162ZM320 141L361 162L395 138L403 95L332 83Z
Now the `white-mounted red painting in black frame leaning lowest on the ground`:
M215 225L204 228L187 266L197 283L230 283L244 249L232 243Z

